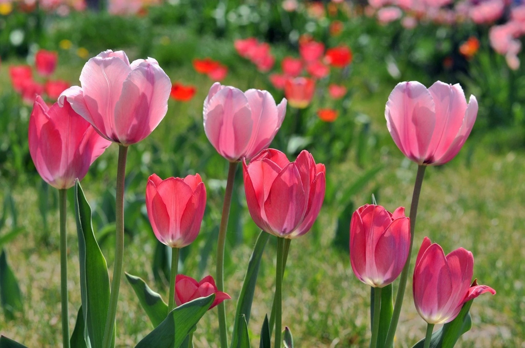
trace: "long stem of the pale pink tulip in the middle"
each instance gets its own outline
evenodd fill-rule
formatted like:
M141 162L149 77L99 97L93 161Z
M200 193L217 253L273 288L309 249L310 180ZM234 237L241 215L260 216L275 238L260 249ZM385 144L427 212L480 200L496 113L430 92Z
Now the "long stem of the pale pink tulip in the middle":
M228 217L230 205L232 205L233 186L235 182L235 170L237 162L230 162L228 167L228 180L226 181L226 192L224 193L223 213L220 217L219 237L217 241L217 289L224 291L224 246L226 244L226 229L228 227ZM226 309L224 302L217 305L219 311L219 332L220 347L228 347L228 337L226 335Z

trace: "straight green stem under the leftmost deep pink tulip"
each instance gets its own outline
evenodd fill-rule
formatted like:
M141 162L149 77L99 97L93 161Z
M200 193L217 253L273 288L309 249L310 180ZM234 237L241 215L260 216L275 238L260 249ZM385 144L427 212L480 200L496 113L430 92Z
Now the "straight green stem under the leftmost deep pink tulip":
M67 189L58 190L60 205L60 297L62 300L62 347L69 348L69 311L67 293Z

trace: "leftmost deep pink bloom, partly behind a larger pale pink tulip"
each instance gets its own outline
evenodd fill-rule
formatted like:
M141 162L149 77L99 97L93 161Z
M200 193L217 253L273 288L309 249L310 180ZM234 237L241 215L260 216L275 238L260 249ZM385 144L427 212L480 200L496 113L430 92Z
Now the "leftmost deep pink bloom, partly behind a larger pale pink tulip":
M48 107L36 97L29 117L29 153L40 176L57 189L82 180L89 166L111 142L72 110L68 102Z

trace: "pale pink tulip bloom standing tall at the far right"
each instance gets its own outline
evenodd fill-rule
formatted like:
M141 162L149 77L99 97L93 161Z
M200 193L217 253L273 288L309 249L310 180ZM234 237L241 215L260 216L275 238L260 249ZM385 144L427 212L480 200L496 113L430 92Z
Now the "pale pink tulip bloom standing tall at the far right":
M459 84L440 81L427 90L417 81L401 82L385 107L386 126L401 152L418 165L442 165L457 155L467 140L478 102L467 104Z

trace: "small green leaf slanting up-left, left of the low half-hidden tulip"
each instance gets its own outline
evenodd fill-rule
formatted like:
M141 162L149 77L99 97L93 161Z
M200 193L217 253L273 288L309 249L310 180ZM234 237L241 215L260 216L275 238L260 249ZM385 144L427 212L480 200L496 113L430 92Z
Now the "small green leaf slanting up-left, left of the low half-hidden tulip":
M159 324L166 319L168 312L167 304L162 300L162 297L158 293L151 290L144 280L128 273L125 273L125 275L131 284L131 287L137 294L142 308L146 314L148 314L148 318L150 318L153 327L158 327Z

